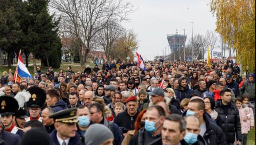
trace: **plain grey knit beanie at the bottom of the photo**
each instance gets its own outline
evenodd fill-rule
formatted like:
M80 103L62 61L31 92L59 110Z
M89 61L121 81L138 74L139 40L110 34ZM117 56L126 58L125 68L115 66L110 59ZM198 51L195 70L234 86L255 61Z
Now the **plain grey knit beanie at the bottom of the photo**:
M84 138L86 145L100 145L108 139L114 139L114 135L106 126L93 124L85 132Z

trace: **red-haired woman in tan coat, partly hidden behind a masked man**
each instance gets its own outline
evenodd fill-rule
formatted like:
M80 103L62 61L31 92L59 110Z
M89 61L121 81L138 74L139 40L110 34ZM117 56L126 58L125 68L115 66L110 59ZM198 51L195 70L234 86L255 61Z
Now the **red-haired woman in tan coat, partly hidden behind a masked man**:
M134 134L136 134L142 127L145 126L146 111L147 111L147 109L144 109L138 114L136 121L134 123L135 129L127 132L127 135L124 137L124 140L121 145L129 145L129 142L130 142L131 138L134 136Z

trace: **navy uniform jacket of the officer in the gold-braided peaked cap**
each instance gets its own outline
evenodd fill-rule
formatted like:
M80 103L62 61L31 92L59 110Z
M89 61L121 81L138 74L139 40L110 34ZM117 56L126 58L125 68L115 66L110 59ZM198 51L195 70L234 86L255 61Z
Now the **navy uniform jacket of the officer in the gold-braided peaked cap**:
M51 143L50 145L60 145L57 139L57 131L54 130L51 133ZM78 133L76 132L76 136L75 137L71 137L69 140L69 143L67 145L83 145L80 141L80 137L78 135Z

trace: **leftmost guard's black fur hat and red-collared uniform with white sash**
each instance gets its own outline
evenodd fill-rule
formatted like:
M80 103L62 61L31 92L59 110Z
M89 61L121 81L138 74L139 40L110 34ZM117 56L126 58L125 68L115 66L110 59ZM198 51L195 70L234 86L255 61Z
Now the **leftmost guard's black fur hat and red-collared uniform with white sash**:
M19 104L16 99L8 96L2 96L0 97L0 103L1 103L1 108L0 108L1 116L9 116L9 115L15 116L15 113L18 111L18 108L19 108ZM11 123L13 122L11 121L10 124ZM20 137L22 137L23 135L23 131L20 128L16 127L14 123L10 128L8 129L4 128L4 129L6 132L17 134Z

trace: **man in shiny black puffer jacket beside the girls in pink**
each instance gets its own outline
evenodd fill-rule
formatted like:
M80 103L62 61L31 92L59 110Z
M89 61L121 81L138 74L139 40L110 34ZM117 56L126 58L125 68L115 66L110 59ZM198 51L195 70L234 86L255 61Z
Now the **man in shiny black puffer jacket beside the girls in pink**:
M215 111L218 112L222 120L222 130L226 135L227 144L233 144L236 137L236 144L240 145L242 133L239 111L236 104L231 102L231 91L223 89L220 92L220 98L221 100L216 102Z

